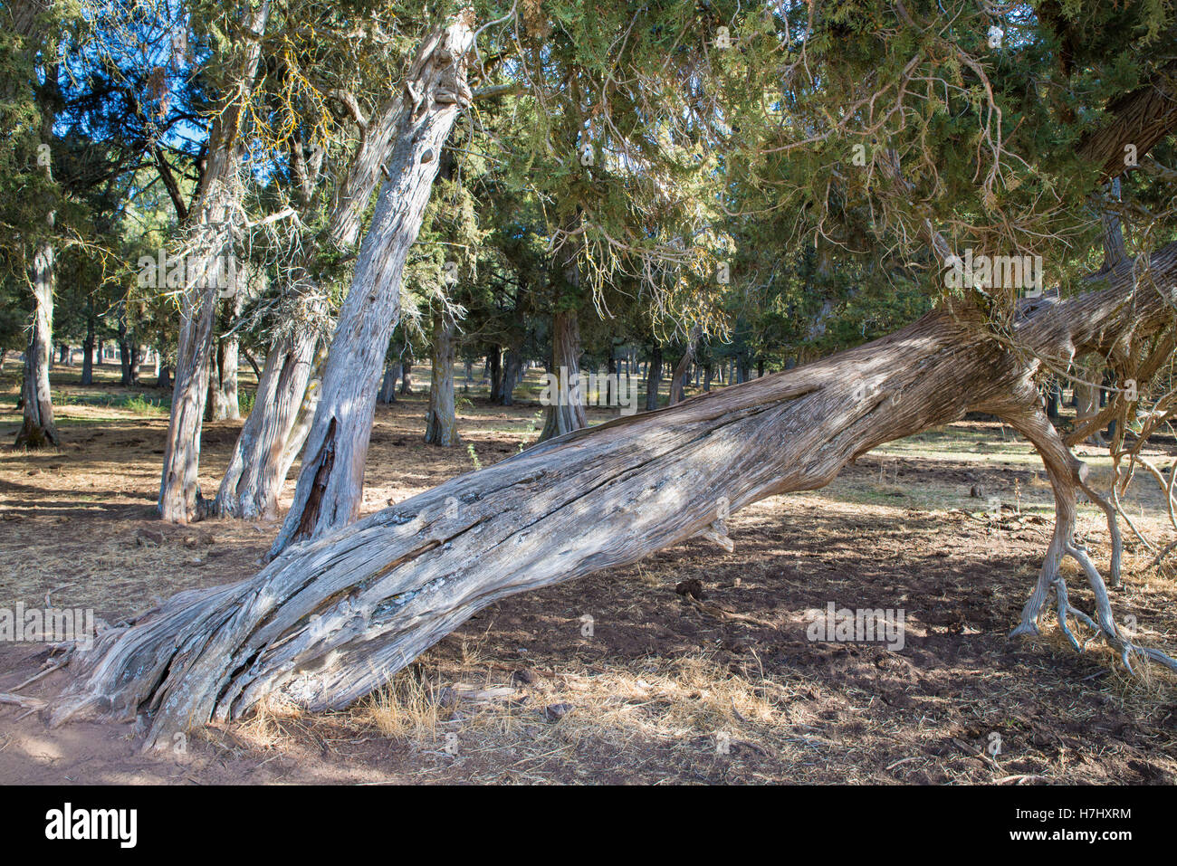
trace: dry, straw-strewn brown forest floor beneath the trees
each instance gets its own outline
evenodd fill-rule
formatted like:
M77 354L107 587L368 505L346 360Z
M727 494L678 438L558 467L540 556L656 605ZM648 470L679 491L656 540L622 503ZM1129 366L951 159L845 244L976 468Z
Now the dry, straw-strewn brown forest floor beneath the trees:
M19 427L16 372L0 373L0 442ZM60 451L0 447L0 608L93 608L115 622L251 577L278 524L159 522L168 394L119 388L111 367L82 388L78 372L53 372ZM458 447L421 441L421 393L378 408L366 512L536 439L538 404L491 406L455 379ZM205 427L206 494L238 427ZM1106 487L1106 452L1079 453ZM1177 444L1150 453L1168 467ZM1124 505L1155 545L1173 539L1148 478ZM871 452L822 491L734 514L733 553L696 540L496 604L347 712L262 712L142 755L131 724L49 730L0 704L0 782L1175 784L1168 672L1137 662L1129 677L1102 645L1076 654L1052 622L1038 641L1006 637L1052 512L1030 445L962 421ZM1080 514L1106 567L1106 524L1090 505ZM1130 531L1125 541L1116 614L1173 654L1177 566L1149 568L1145 546ZM1063 568L1072 604L1090 609L1082 575ZM676 593L692 579L701 602ZM831 602L902 611L903 647L809 640L807 612ZM41 645L0 642L0 692L44 659ZM61 675L20 692L52 698Z

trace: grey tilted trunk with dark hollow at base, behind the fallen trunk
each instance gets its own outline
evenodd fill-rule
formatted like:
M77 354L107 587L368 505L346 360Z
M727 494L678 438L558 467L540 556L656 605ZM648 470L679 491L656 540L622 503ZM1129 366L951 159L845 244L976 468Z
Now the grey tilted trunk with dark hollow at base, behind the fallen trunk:
M400 313L401 271L420 231L441 147L459 104L470 100L470 24L464 12L445 31L431 34L405 78L395 145L386 167L388 180L360 246L327 355L294 502L271 557L345 526L359 514L380 371Z

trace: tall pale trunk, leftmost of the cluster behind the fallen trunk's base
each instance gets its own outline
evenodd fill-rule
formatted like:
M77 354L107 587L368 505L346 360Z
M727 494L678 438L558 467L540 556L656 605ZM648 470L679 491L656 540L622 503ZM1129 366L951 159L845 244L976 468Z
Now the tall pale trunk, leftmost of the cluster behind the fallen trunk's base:
M202 509L198 472L200 431L208 397L208 357L226 257L233 254L233 229L240 213L239 173L246 153L241 135L244 102L258 78L261 36L270 20L270 0L262 0L245 22L250 41L242 54L238 84L228 105L215 116L208 136L208 160L197 205L188 212L184 252L186 285L180 293L180 338L175 353L175 385L164 445L159 513L164 520L186 524Z

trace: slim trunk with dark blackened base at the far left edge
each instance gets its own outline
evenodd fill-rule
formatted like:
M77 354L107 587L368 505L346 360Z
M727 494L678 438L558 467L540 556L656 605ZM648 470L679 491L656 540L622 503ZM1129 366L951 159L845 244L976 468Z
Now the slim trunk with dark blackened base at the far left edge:
M58 447L61 439L53 422L53 398L49 393L49 355L53 353L53 280L54 249L52 241L36 246L33 254L33 327L25 348L25 378L20 398L24 419L16 434L18 448Z

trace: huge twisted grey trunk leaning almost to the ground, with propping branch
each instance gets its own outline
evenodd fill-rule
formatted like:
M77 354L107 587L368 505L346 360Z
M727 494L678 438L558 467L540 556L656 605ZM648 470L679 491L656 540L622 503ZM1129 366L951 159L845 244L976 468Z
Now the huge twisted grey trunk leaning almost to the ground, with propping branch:
M1072 642L1069 615L1096 625L1066 601L1058 565L1071 555L1096 592L1098 631L1125 661L1136 651L1173 664L1123 638L1098 571L1073 545L1084 469L1045 419L1033 381L1036 358L1065 367L1168 327L1177 244L1152 258L1151 273L1163 291L1141 282L1132 304L1131 262L1100 275L1106 288L1025 304L1016 349L985 335L976 308L938 309L864 346L452 479L292 547L250 580L180 593L102 633L91 651L75 651L77 677L52 719L145 713L149 746L272 694L310 711L345 707L501 598L696 535L729 546L729 511L822 487L857 455L969 411L1022 431L1057 498L1053 540L1016 633L1037 631L1051 589Z

